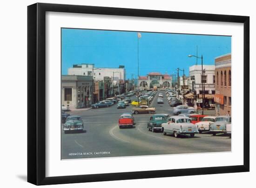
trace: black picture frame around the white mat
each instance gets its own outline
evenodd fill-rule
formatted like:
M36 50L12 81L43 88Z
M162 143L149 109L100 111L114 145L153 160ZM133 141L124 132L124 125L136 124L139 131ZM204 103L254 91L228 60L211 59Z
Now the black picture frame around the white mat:
M243 165L46 177L46 12L243 23ZM36 3L27 7L27 181L35 185L113 181L249 171L249 17L114 7Z

